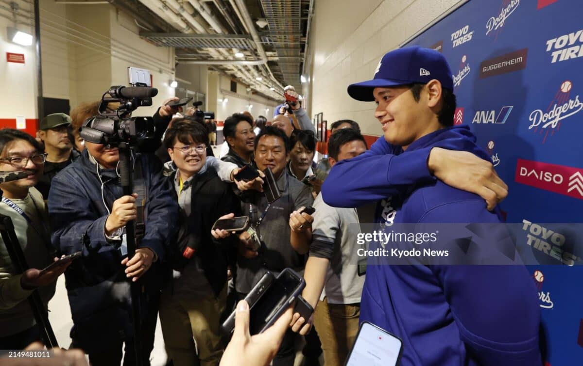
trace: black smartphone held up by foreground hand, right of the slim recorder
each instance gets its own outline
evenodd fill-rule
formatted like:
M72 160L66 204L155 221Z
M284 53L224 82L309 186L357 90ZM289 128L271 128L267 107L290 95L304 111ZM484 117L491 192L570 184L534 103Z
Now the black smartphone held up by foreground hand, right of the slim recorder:
M261 332L273 317L287 308L289 300L303 289L305 283L297 273L283 271L251 308L249 332L251 335Z

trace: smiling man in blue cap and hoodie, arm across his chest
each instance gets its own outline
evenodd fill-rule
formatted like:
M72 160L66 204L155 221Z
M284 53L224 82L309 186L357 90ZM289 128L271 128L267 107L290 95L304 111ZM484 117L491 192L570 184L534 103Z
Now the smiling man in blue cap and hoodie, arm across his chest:
M385 54L373 80L348 87L352 98L376 102L384 136L371 151L332 168L322 188L326 203L350 207L381 198L376 221L386 232L396 223L500 222L477 194L441 180L410 180L431 165L431 155L418 165L414 157L437 147L488 159L468 127L453 126L451 75L439 52L407 47ZM484 188L500 191L500 182ZM402 339L402 365L540 365L532 278L518 257L494 258L509 265L388 265L368 258L360 321Z

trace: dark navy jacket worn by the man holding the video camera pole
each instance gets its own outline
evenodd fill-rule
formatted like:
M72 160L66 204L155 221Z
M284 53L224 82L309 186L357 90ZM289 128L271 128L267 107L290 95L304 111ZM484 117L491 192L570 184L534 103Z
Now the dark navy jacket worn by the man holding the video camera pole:
M148 195L145 236L139 247L150 248L158 257L141 283L145 293L155 295L161 286L157 272L167 240L174 234L178 205L156 157L137 154L135 164L142 164ZM65 279L75 324L73 338L85 347L96 335L107 339L132 336L129 282L118 250L121 243L108 243L104 235L108 216L104 201L111 209L113 202L123 196L122 187L115 169L99 169L97 174L97 166L85 150L54 177L48 196L53 245L63 254L83 253L65 272Z

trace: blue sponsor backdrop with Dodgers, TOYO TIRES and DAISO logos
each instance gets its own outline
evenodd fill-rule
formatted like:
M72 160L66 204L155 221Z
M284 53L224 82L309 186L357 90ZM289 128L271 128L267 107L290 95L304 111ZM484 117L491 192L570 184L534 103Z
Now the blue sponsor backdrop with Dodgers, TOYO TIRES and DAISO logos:
M556 262L529 266L553 366L583 362L583 266L573 266L583 255L545 225L583 222L582 14L581 0L472 0L407 44L447 58L455 123L471 126L508 184L501 207L523 223L518 244Z

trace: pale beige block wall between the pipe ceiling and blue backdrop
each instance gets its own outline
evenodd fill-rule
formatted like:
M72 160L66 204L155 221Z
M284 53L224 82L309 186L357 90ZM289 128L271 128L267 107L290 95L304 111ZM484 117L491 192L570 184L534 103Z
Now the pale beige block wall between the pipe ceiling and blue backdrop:
M372 79L386 52L429 24L458 0L318 0L310 33L311 115L323 112L328 128L338 119L359 122L364 134L381 135L373 102L355 101L346 87ZM308 62L307 62L308 64Z

